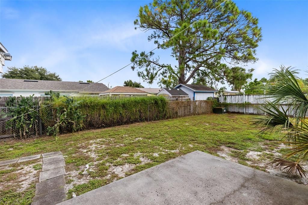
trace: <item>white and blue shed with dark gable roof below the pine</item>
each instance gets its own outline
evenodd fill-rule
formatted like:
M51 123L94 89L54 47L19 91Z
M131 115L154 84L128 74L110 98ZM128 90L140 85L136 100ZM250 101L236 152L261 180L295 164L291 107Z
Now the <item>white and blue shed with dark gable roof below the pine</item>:
M179 88L188 94L190 100L206 100L208 97L214 98L217 90L204 85L179 84Z

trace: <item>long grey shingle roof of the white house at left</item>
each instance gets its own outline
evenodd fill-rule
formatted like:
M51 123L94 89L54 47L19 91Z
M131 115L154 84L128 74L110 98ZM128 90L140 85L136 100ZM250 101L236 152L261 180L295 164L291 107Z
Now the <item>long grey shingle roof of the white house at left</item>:
M94 83L0 78L0 90L79 91L92 84ZM95 83L80 93L101 93L105 90L108 90L108 87L103 83Z

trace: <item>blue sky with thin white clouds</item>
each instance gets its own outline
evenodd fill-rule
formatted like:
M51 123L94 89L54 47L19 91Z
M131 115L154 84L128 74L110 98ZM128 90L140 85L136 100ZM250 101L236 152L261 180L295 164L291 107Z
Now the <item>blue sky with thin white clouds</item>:
M133 50L155 48L149 33L134 30L146 1L0 1L0 41L13 56L7 66L43 66L63 81L98 81L130 62ZM263 40L253 78L280 64L308 70L308 1L235 1L259 18ZM156 51L175 63L168 50ZM304 71L301 77L307 78ZM103 80L111 86L139 81L130 66ZM148 87L158 87L156 84Z

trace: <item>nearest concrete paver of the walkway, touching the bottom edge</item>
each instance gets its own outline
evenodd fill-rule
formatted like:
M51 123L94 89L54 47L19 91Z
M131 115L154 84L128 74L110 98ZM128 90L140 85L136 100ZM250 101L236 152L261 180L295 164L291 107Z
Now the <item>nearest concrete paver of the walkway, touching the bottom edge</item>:
M66 199L64 187L50 191L45 195L35 196L32 205L55 205Z

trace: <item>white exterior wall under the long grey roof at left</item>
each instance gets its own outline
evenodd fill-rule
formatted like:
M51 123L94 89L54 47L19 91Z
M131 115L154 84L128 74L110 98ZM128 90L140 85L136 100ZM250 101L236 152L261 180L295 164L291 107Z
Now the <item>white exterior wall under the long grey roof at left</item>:
M46 90L49 91L49 90ZM19 97L20 95L23 97L29 97L30 95L32 96L34 94L34 97L41 97L41 94L44 94L45 91L30 91L30 90L0 90L0 97L3 96L16 96ZM69 94L73 94L75 92L61 92L60 91L60 95L69 95ZM95 94L95 93L76 93L73 96L99 96L99 94Z

